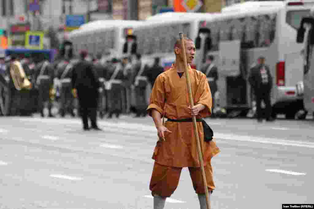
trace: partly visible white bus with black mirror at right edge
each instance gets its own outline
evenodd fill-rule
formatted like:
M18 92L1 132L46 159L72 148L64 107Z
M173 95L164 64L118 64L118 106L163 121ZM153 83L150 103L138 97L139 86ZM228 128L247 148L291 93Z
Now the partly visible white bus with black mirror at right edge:
M313 10L311 17L303 18L297 34L297 43L304 43L304 77L303 80L297 85L297 92L303 95L303 104L306 113L309 112L314 116L314 16ZM298 88L299 87L299 88ZM304 115L306 116L306 114Z

